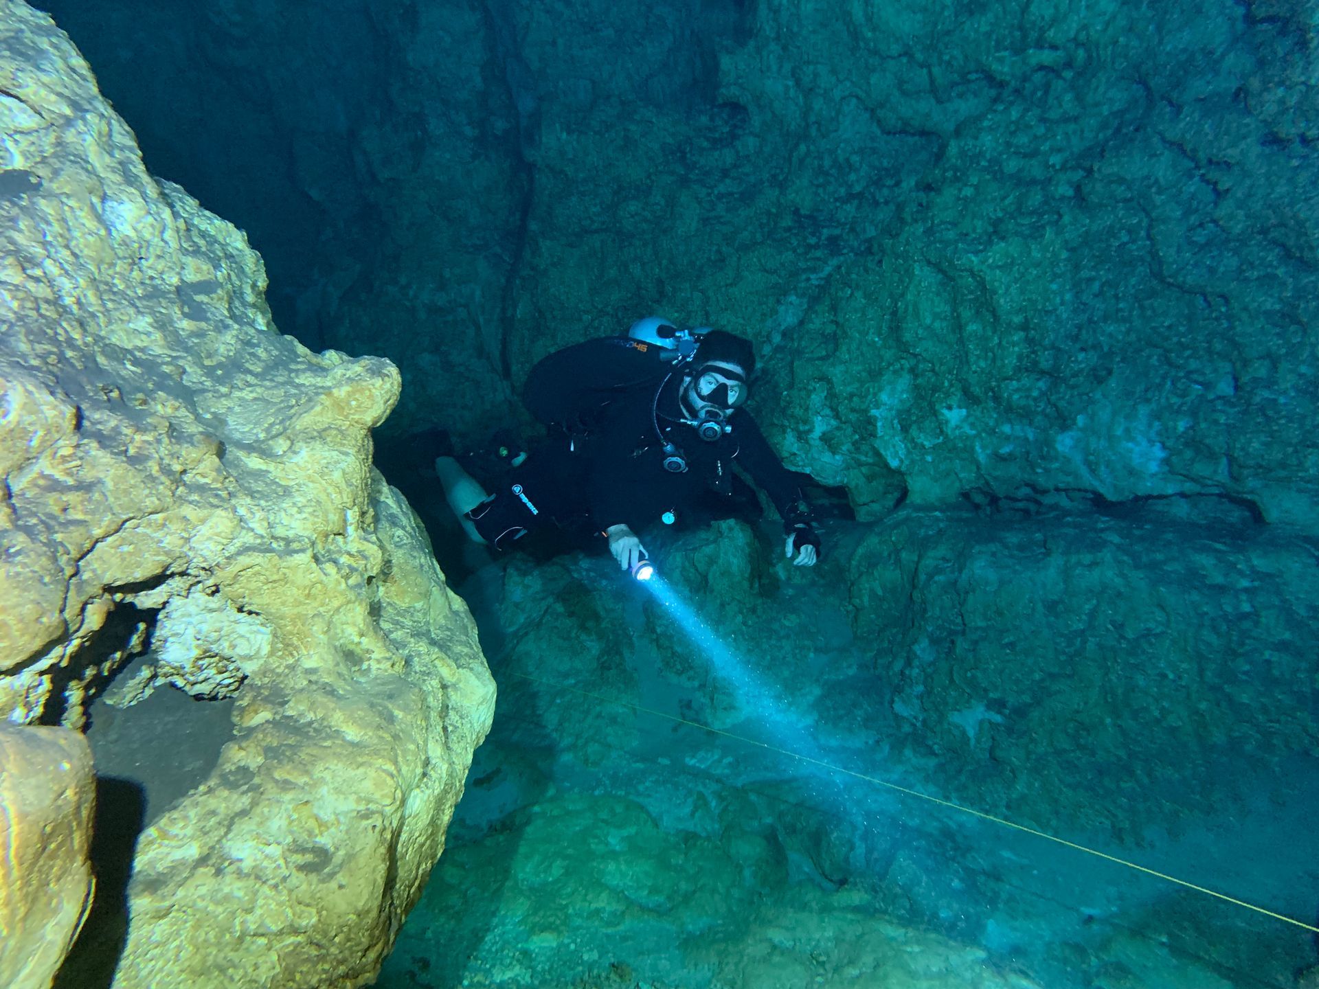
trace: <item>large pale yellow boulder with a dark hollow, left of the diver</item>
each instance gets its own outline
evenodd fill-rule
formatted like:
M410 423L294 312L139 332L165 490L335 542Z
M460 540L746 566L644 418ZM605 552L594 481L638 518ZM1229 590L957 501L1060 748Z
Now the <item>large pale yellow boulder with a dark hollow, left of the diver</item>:
M80 727L142 647L121 700L232 698L137 841L127 935L90 940L125 988L360 985L493 704L369 465L397 372L274 331L260 258L146 174L46 16L0 1L0 716Z

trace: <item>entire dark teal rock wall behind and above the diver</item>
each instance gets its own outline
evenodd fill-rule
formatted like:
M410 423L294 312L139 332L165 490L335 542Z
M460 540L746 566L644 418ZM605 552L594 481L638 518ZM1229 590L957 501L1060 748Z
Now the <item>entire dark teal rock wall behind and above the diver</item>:
M161 30L149 11L67 16L131 38L111 78ZM397 429L472 442L516 414L534 359L660 311L753 338L785 396L758 404L772 438L863 514L1084 489L1310 525L1301 4L171 17L207 41L202 59L157 46L170 92L220 79L231 109L141 127L193 158L241 128L285 136L239 145L268 174L227 194L315 203L301 324L401 365Z

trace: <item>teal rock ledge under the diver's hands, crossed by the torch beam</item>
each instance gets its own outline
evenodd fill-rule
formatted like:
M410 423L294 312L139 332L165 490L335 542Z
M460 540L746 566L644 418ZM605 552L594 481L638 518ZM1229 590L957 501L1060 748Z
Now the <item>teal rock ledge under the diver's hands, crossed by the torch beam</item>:
M1128 840L1319 757L1319 547L1162 510L904 509L828 530L814 572L740 522L656 534L677 604L645 599L644 617L604 563L513 567L506 669L547 695L761 725L987 812ZM537 717L587 766L637 744L613 704Z

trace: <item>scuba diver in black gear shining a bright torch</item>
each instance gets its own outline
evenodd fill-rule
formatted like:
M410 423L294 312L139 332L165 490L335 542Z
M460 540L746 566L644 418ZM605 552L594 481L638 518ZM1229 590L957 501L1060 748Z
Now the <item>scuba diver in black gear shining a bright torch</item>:
M532 368L522 400L550 436L493 493L452 456L437 458L435 473L472 541L503 551L555 529L604 535L628 570L646 556L638 531L699 518L711 494L732 502L740 485L758 510L739 467L783 518L785 555L814 566L806 476L783 467L744 407L754 369L749 340L649 316Z

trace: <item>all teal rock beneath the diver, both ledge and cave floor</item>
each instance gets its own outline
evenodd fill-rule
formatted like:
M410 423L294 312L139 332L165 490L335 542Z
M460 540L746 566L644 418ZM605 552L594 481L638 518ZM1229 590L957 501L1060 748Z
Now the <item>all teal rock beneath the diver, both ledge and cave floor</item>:
M1307 918L1316 550L1163 512L904 509L813 574L773 529L656 537L695 640L611 560L516 560L381 989L1289 985L1304 931L885 786Z

